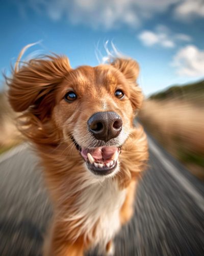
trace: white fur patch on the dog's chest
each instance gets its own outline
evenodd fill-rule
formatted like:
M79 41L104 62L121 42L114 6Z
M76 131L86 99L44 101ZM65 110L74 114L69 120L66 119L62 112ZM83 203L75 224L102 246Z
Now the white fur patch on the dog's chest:
M125 195L126 190L120 190L114 181L86 188L80 212L84 216L85 236L94 244L106 245L119 230L119 214Z

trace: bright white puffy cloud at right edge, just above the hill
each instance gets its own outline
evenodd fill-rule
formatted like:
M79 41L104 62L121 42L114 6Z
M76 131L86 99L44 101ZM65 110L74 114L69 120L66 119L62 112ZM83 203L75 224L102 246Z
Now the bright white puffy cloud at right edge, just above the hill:
M204 50L188 45L175 54L171 64L181 76L204 76Z

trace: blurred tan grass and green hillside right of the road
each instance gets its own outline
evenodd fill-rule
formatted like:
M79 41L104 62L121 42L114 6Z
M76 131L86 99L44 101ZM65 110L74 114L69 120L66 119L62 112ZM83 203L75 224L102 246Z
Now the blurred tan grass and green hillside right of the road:
M204 180L204 80L172 86L144 102L140 120L173 156Z

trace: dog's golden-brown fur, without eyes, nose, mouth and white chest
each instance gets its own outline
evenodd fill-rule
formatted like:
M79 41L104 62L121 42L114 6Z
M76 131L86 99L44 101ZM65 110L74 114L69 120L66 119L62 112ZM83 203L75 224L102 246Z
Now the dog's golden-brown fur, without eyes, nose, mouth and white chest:
M138 64L132 59L115 58L106 65L72 69L67 57L54 55L23 63L19 70L13 71L12 78L7 78L10 104L14 111L22 112L19 129L37 148L54 204L44 255L80 256L92 247L98 236L99 220L85 232L83 227L85 221L89 223L88 216L80 217L78 207L83 195L89 198L88 188L95 183L103 189L103 184L112 186L110 182L113 182L116 193L125 191L119 218L121 224L130 220L135 185L148 158L146 135L140 125L133 124L143 99L136 83L138 72ZM115 97L118 88L125 93L124 100ZM63 99L68 90L79 95L72 103ZM74 136L80 145L89 146L87 120L99 111L119 114L126 136L119 156L119 172L107 178L109 181L90 178L71 140ZM105 247L107 251L111 245L110 240Z

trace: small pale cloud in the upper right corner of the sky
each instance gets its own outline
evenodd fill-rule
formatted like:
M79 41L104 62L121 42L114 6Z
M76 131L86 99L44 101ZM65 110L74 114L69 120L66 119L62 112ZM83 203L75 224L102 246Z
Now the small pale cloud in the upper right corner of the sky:
M203 0L184 0L175 8L175 16L178 19L188 20L197 16L204 17Z

